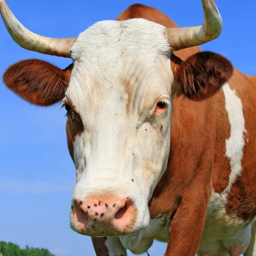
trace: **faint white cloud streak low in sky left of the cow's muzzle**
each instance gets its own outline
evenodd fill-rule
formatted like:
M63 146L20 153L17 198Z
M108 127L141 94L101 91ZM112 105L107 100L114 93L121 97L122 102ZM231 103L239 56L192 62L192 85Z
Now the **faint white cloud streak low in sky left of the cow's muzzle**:
M71 180L29 181L13 178L0 178L0 195L2 194L45 194L54 192L71 192L74 184Z

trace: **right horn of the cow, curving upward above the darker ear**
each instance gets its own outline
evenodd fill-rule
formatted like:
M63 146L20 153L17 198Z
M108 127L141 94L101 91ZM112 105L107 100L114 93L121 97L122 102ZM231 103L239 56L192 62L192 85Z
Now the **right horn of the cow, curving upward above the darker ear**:
M204 10L202 26L166 29L172 51L205 44L221 34L222 19L214 0L201 1Z

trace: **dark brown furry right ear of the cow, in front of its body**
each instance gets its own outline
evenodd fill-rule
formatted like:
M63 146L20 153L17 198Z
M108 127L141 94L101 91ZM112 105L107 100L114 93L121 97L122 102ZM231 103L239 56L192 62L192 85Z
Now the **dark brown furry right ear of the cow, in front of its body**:
M227 58L214 52L198 52L178 65L176 95L194 101L207 99L217 93L232 74L233 66Z

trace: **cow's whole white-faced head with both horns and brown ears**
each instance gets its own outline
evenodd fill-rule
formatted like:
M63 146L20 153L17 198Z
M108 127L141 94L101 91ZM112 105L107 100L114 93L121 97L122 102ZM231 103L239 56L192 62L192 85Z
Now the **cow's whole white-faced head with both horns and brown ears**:
M65 70L45 61L20 61L3 79L28 102L46 106L62 100L67 110L77 178L70 222L76 232L136 234L136 244L166 169L174 96L207 99L231 76L230 62L212 52L199 52L171 69L174 50L206 43L221 32L213 0L202 3L203 26L102 21L78 38L53 39L24 31L0 2L6 27L20 46L73 61Z

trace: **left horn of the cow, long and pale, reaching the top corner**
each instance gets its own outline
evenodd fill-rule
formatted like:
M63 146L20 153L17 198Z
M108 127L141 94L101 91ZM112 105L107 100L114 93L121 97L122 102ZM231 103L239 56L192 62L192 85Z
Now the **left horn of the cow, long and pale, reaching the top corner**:
M0 0L0 13L12 39L24 49L70 58L76 38L47 38L26 29L13 15L5 0Z

